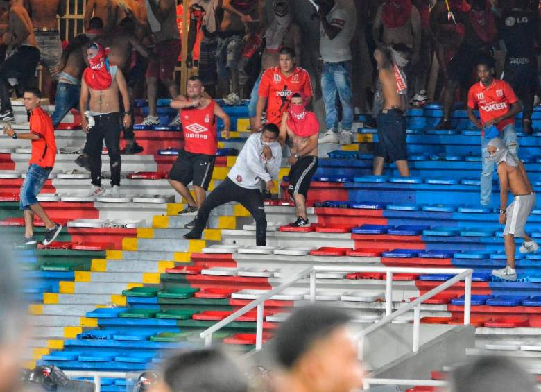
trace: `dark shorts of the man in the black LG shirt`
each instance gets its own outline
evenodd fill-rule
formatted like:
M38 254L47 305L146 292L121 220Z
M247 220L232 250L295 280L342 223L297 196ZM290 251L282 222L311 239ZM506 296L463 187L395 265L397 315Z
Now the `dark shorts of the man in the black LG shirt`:
M506 58L501 79L513 87L518 96L537 91L538 72L535 58Z

